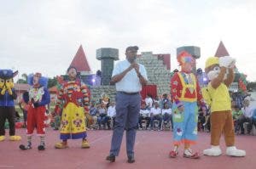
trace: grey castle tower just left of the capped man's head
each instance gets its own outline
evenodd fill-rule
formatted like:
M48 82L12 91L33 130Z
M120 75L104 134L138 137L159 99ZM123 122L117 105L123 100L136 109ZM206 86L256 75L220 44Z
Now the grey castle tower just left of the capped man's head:
M102 61L102 85L109 85L113 71L113 61L119 59L119 49L99 48L96 50L96 59Z

